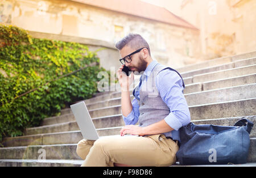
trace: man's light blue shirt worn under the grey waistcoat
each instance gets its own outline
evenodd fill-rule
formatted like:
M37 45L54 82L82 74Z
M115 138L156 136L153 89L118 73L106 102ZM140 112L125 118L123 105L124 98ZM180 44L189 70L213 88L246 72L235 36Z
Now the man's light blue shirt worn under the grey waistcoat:
M158 62L154 60L147 66L147 69L143 73L145 77L142 81L142 85L147 81L147 78L150 76L151 71L157 63ZM172 139L180 140L179 132L177 132L177 130L179 130L181 126L188 125L191 121L188 104L183 95L184 88L182 79L175 71L165 69L156 75L155 84L156 88L158 88L160 97L164 103L167 104L168 108L170 108L170 114L164 118L164 121L174 129L171 132ZM134 95L135 98L131 101L133 110L127 117L123 116L123 121L125 121L126 125L135 125L139 120L139 104L136 99L139 99L139 91L135 91Z

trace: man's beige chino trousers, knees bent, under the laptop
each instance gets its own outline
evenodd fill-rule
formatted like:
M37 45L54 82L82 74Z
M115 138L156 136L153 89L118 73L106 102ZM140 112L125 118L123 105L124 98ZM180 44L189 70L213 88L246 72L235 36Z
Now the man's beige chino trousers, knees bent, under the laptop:
M163 134L146 137L107 136L77 144L77 155L84 159L82 166L171 166L176 163L179 146Z

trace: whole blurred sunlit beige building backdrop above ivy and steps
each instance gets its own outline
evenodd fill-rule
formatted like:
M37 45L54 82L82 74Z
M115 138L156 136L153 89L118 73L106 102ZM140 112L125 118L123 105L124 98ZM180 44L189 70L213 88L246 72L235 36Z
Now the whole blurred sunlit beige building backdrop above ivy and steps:
M152 57L177 68L256 50L255 0L1 0L0 23L32 37L75 41L98 52L105 69L119 67L115 43L130 32Z

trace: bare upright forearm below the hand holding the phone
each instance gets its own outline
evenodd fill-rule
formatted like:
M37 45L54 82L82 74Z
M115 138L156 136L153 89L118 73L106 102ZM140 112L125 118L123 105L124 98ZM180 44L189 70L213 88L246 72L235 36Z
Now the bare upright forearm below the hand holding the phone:
M127 117L133 110L133 105L131 104L129 90L121 92L121 108L122 108L122 115L125 117Z

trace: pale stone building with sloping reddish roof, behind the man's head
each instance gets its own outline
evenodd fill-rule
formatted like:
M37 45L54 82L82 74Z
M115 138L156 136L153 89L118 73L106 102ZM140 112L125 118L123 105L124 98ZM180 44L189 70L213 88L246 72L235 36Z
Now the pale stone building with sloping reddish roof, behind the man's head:
M1 0L0 23L24 28L34 37L76 41L93 50L104 47L98 56L106 69L120 65L114 45L130 32L140 33L152 57L165 65L182 67L201 56L199 29L139 0Z

